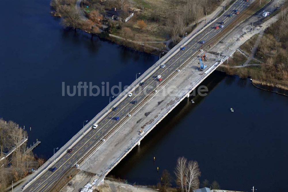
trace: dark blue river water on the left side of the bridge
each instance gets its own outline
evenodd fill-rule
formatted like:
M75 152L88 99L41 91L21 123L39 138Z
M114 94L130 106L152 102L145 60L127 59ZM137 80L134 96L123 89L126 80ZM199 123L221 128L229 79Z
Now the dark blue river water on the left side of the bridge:
M13 15L11 9L0 13L5 18L0 31L0 117L31 127L28 145L40 140L34 152L46 158L109 103L108 96L62 97L62 82L99 87L101 82L110 87L122 82L123 87L158 58L80 30L63 30L60 19L50 16L49 3L3 1Z

